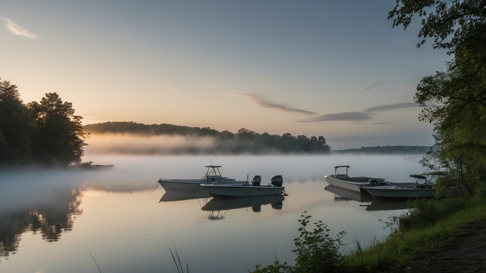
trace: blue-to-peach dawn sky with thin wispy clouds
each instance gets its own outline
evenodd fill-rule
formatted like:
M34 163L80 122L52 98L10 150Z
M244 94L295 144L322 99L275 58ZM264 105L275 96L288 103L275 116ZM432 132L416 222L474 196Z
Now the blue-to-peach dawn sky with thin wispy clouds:
M0 2L0 78L84 124L136 121L429 145L420 79L446 51L392 28L395 0Z

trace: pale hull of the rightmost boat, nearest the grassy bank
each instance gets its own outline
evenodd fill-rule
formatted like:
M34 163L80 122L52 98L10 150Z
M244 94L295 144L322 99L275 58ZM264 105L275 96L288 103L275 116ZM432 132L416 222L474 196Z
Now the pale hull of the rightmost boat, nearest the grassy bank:
M381 188L364 187L373 198L382 199L406 199L419 197L434 197L434 188Z

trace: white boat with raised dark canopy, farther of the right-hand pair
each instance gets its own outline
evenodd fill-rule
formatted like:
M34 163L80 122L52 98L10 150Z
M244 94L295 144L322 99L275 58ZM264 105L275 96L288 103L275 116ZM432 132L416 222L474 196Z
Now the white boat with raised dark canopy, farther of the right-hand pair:
M344 168L346 168L346 173L344 173ZM336 188L350 190L359 194L366 191L363 190L363 187L388 185L388 183L386 183L383 178L366 177L366 176L349 177L347 175L348 168L349 166L335 166L333 175L331 174L331 175L324 176L326 177L326 182L328 182L329 185L334 186Z

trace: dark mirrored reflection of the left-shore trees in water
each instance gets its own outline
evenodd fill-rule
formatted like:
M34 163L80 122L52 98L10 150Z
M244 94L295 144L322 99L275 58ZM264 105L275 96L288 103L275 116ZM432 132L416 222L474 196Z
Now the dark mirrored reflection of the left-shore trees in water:
M17 252L22 233L40 233L48 242L58 241L61 233L71 231L76 215L83 210L81 189L58 192L45 204L30 210L0 214L0 258Z

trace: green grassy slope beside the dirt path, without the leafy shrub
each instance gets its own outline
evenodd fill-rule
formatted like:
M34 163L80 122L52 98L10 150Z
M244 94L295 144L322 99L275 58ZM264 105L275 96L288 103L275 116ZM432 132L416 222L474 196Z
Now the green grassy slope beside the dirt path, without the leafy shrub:
M412 209L408 215L408 219L411 220L409 229L396 230L386 239L375 241L366 248L361 248L358 244L355 250L344 256L345 262L349 265L349 271L407 272L413 263L414 255L433 250L446 241L466 233L466 228L475 222L486 221L486 200L484 198L421 200L419 202L435 205L436 208L442 208L444 211L439 212L434 219L434 217L423 215L429 214L424 209L430 208L430 206L416 207L415 211ZM412 202L411 205L416 205L416 203ZM423 218L417 217L420 215ZM407 218L407 215L404 216Z

